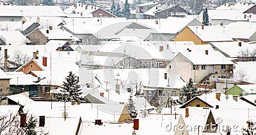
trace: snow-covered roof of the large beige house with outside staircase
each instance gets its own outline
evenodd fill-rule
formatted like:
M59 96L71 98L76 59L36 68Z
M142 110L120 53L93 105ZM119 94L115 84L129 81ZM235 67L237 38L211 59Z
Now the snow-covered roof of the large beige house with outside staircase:
M183 55L195 65L234 64L218 51L208 52L208 55L205 52L180 52L180 55Z

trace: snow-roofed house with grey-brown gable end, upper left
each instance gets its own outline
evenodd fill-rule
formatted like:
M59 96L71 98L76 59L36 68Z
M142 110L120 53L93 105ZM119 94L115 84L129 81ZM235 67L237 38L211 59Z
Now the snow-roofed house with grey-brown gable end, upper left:
M76 44L79 39L62 29L35 29L28 34L28 39L36 45L45 45L50 40L67 40L69 43Z

